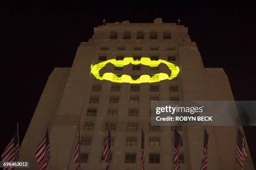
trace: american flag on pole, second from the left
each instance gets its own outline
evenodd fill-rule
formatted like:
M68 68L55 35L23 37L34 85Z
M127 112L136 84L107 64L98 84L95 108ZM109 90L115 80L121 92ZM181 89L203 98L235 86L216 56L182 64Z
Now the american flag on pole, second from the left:
M47 128L44 140L38 145L34 154L39 164L38 170L45 170L50 157L49 128Z

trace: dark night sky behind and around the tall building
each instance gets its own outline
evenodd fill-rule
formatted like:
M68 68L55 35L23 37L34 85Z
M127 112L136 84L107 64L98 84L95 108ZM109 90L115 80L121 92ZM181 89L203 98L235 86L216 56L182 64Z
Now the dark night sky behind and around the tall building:
M54 67L71 67L81 41L107 23L176 23L189 28L205 67L224 68L235 100L256 100L256 8L0 8L0 152L20 124L20 143ZM256 165L255 127L244 127ZM234 146L235 147L235 146Z

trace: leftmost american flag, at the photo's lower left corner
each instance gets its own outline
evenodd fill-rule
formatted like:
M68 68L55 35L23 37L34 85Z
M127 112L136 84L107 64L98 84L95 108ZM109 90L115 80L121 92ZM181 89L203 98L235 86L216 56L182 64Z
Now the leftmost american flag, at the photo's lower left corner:
M1 158L2 161L18 161L19 159L19 143L18 143L18 130L13 135L12 140L8 143L3 151ZM14 167L4 167L4 170L14 170Z

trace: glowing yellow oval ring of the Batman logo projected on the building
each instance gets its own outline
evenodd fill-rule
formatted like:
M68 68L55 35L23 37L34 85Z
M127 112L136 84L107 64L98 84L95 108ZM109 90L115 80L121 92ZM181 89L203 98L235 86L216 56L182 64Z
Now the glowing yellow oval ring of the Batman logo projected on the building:
M100 69L105 67L107 63L112 63L115 67L123 67L130 63L134 65L143 64L150 67L157 67L159 66L160 63L164 63L172 71L172 74L170 76L166 73L158 73L158 74L154 74L153 76L141 75L136 80L133 80L131 76L126 74L123 74L122 76L118 77L114 73L104 73L102 76L100 76L99 74ZM177 75L179 74L179 67L165 60L151 61L150 58L142 57L141 60L139 61L139 60L133 60L132 57L126 57L123 60L110 59L95 65L92 65L91 73L95 76L96 79L108 80L116 83L132 83L132 84L154 83L154 82L158 82L166 79L172 80L173 78L177 77Z

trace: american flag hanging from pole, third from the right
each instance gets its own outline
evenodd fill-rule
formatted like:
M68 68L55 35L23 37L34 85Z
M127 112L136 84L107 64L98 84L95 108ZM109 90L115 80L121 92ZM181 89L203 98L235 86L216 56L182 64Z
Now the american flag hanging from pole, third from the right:
M179 142L180 142L180 135L177 130L174 128L173 132L173 160L174 160L174 170L179 170Z

